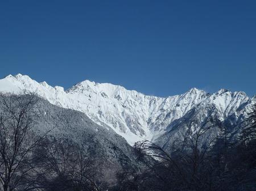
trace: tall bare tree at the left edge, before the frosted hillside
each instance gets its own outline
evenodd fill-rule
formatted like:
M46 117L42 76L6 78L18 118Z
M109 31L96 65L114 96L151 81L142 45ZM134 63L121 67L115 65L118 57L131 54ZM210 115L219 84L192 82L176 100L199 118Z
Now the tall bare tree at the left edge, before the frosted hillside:
M35 167L32 151L45 135L34 133L34 94L0 95L0 189L30 190Z

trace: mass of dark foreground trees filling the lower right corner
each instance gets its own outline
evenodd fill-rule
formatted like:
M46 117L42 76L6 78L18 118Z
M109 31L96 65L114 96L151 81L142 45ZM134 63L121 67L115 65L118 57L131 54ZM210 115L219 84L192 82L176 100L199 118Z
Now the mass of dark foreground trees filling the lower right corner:
M126 169L119 173L120 183L113 190L256 190L256 109L246 120L240 140L228 139L225 126L220 121L215 124L222 132L207 137L207 142L205 136L215 125L195 133L188 125L171 152L149 141L137 142L138 159L147 167L141 172Z

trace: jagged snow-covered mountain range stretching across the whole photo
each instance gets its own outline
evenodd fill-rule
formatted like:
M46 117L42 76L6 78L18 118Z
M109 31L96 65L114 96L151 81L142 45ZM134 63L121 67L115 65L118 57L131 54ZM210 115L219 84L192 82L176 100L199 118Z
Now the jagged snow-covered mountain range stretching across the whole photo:
M182 121L195 109L199 112L193 117L199 121L214 115L220 121L232 118L231 123L238 123L250 113L251 105L256 102L255 96L250 98L245 92L224 89L210 95L192 88L185 94L156 97L89 80L67 91L21 74L8 75L0 80L0 92L23 94L24 91L36 92L59 107L84 112L97 124L108 125L131 145L143 139L159 142L163 136L162 140L170 138L167 134L177 121Z

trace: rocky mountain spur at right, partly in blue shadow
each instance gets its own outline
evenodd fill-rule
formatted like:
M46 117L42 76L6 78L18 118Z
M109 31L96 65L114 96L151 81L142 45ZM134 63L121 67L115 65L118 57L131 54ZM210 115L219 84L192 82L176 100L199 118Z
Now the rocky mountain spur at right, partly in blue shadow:
M175 141L183 140L187 136L188 128L192 128L192 132L195 133L199 129L209 127L212 128L204 134L201 143L209 143L210 140L223 134L224 127L227 133L226 138L236 140L243 129L243 122L252 111L253 104L255 101L247 97L245 92L221 89L209 95L183 117L172 121L153 141L166 150L171 150Z

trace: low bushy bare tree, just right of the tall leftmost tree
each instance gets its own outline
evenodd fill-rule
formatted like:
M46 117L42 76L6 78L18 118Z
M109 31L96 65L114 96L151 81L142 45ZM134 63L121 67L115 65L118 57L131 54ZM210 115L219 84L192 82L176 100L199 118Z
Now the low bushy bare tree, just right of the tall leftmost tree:
M48 146L47 146L48 144ZM88 148L69 138L52 138L38 153L42 163L43 187L48 191L100 191L105 186L98 160L90 156Z

